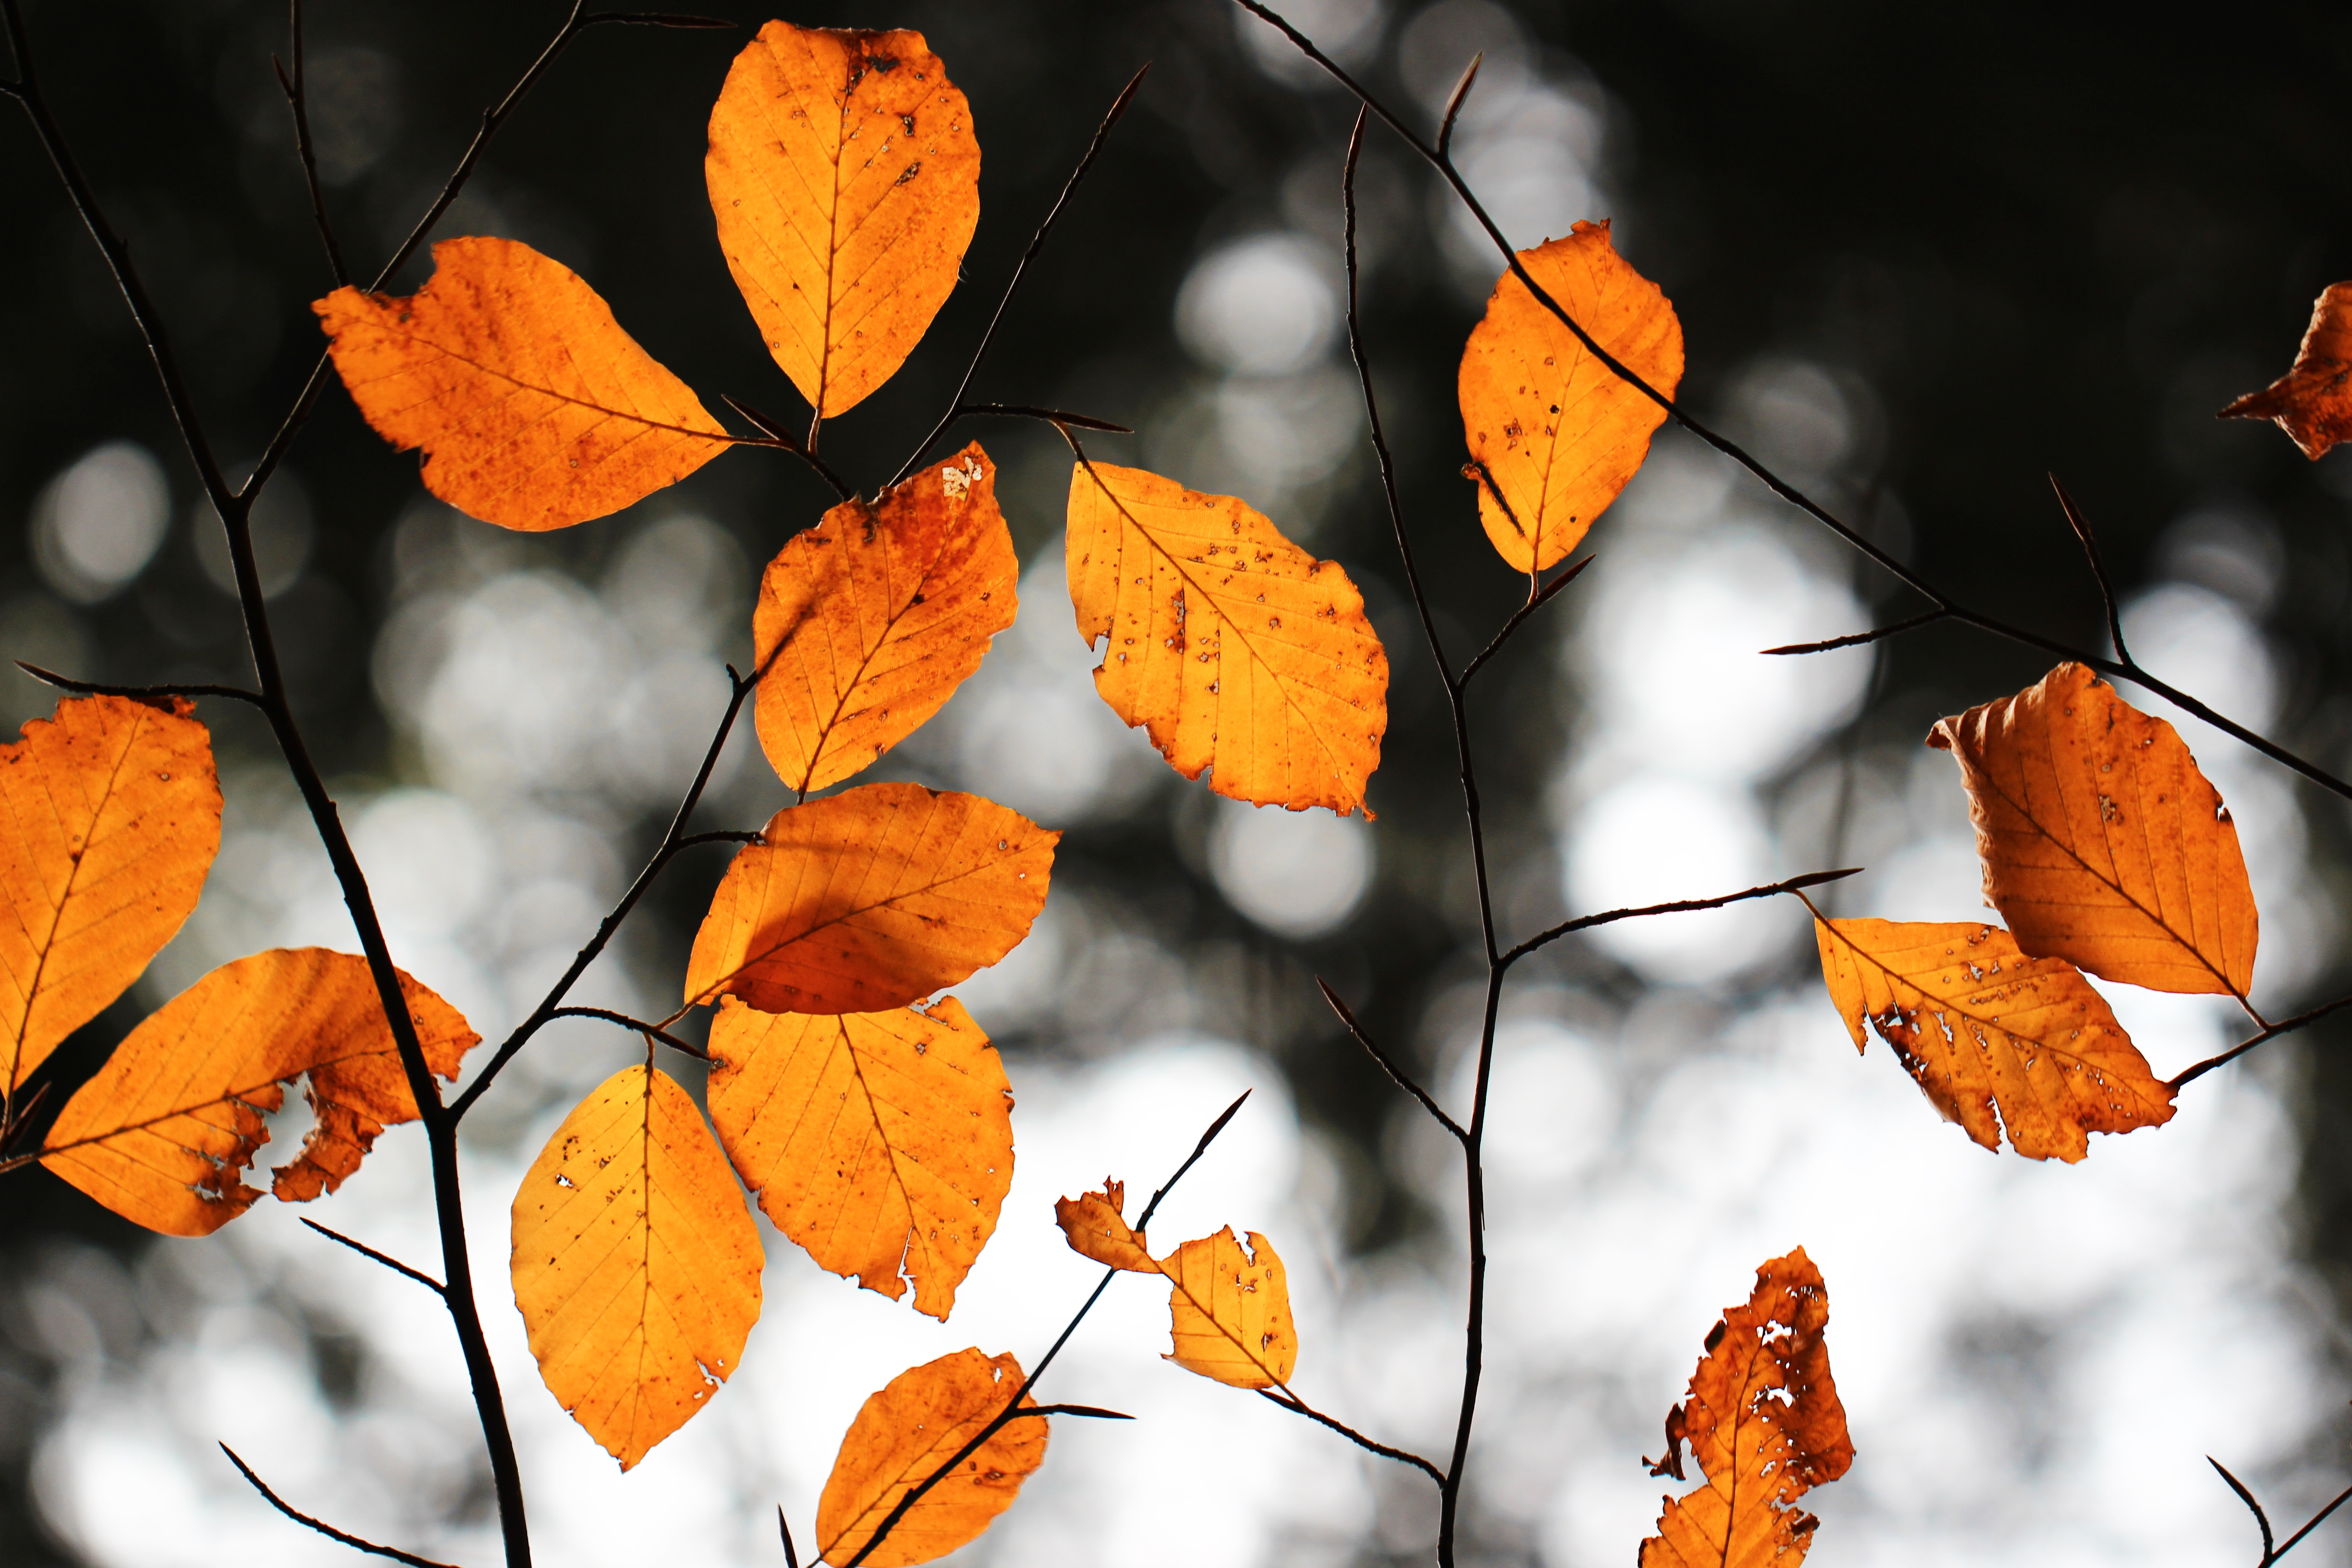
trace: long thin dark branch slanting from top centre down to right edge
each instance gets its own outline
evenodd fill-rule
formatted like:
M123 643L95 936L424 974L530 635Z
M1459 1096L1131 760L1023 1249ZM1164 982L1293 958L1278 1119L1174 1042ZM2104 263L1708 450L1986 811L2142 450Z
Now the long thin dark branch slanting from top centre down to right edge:
M1275 26L1284 38L1291 40L1291 45L1301 54L1305 54L1310 61L1315 61L1341 87L1345 87L1348 92L1352 92L1357 96L1357 101L1364 106L1367 113L1371 113L1374 118L1378 118L1383 125L1388 125L1388 129L1392 129L1399 139L1404 139L1404 143L1409 148L1414 148L1414 153L1418 153L1446 181L1446 186L1454 188L1454 195L1461 200L1463 209L1470 212L1470 216L1477 219L1479 228L1486 230L1486 237L1494 240L1494 247L1503 254L1503 263L1510 270L1510 275L1517 277L1519 284L1526 287L1529 296L1534 296L1534 301L1541 303L1545 310L1550 310L1552 317L1562 327L1566 327L1576 336L1576 341L1583 343L1585 350L1595 360L1599 360L1604 367L1609 367L1609 374L1613 374L1618 381L1623 381L1625 386L1630 386L1632 390L1642 393L1653 404L1658 404L1658 409L1663 409L1665 416L1672 418L1677 425L1682 425L1684 430L1689 430L1691 435L1696 435L1698 440L1703 440L1705 444L1715 447L1719 454L1724 454L1726 458L1731 458L1733 463L1738 463L1740 468L1745 468L1748 473L1752 473L1764 484L1764 489L1769 489L1771 494L1780 496L1780 501L1788 501L1790 505L1795 505L1797 510L1802 510L1806 517L1811 517L1813 522L1818 522L1820 527L1830 529L1832 534L1837 534L1839 538L1844 538L1849 545L1853 545L1856 550L1860 550L1863 555L1867 555L1889 576L1893 576L1898 583L1903 583L1905 588L1910 588L1912 592L1917 592L1919 597L1924 597L1929 604L1933 604L1936 609L1940 609L1947 618L1959 621L1964 625L1973 625L1980 632L1990 632L1994 637L2006 637L2011 642L2020 642L2020 644L2025 644L2030 649L2042 649L2044 654L2051 654L2056 658L2065 658L2065 661L2074 661L2074 663L2089 665L2091 670L2098 670L2100 675L2105 675L2110 679L2129 679L2136 686L2154 691L2157 696L2161 696L2164 701L2169 701L2173 708L2180 708L2183 712L2192 712L2199 719L2204 719L2206 724L2211 724L2211 726L2216 726L2216 729L2234 736L2237 741L2251 745L2253 750L2263 752L2272 762L2277 762L2277 764L2281 764L2286 769L2293 769L2296 773L2303 773L2305 778L2310 778L2312 783L2321 785L2324 790L2333 790L2336 795L2343 795L2345 799L2352 799L2352 783L2345 783L2343 778L2338 778L2336 773L2328 773L2319 764L2305 762L2303 757L2298 757L2296 752L2286 750L2284 745L2277 745L2274 741L2267 741L2267 738L2258 736L2256 731L2246 729L2237 719L2230 719L2225 715L2213 712L2211 708L2206 708L2201 701L2197 701L2187 691L2180 691L2178 686L2157 679L2154 675L2150 675L2138 663L2133 663L2129 658L2122 658L2122 661L2117 661L2117 658L2100 658L2098 654L2070 646L2065 642L2058 642L2056 637L2044 637L2044 635L2030 632L2030 630L2025 630L2020 625L2011 625L2009 621L1999 621L1994 616L1985 616L1980 611L1966 609L1957 599L1952 599L1952 595L1947 595L1940 588L1936 588L1933 583L1924 581L1919 574L1915 574L1910 567L1905 567L1903 562L1898 562L1893 555L1889 555L1879 545L1875 545L1867 538L1863 538L1853 527L1849 527L1839 517L1830 515L1818 501L1813 501L1811 496L1806 496L1804 491L1799 491L1795 484L1790 484L1788 480L1783 480L1778 473L1773 473L1771 468L1766 468L1745 447L1740 447L1731 437L1722 435L1719 430L1705 425L1698 416L1689 414L1672 397L1668 397L1665 393L1661 393L1658 388L1653 388L1646 378L1642 378L1639 371L1635 371L1630 364L1625 364L1623 360L1618 360L1616 355L1611 355L1599 343L1599 339L1595 339L1583 327L1583 322L1578 322L1573 315L1569 315L1569 310L1557 299L1552 299L1550 292L1541 282L1536 282L1536 277L1526 270L1526 263L1519 261L1519 254L1510 247L1510 240L1503 235L1501 226L1494 221L1494 216L1486 212L1486 207L1477 200L1477 193L1470 190L1470 181L1465 181L1463 174L1461 174L1461 169L1454 167L1454 160L1446 158L1446 155L1442 155L1437 148L1432 148L1418 134L1414 134L1414 129L1409 125L1404 125L1404 120L1399 120L1392 108L1388 108L1362 82L1357 82L1352 75L1348 75L1348 71L1341 68L1338 61L1334 61L1329 54L1324 54L1322 49L1317 49L1315 42L1305 33L1301 33L1298 28L1294 28L1279 12L1275 12L1272 7L1268 7L1263 0L1235 0L1235 5L1240 5L1251 16L1256 16L1261 21Z

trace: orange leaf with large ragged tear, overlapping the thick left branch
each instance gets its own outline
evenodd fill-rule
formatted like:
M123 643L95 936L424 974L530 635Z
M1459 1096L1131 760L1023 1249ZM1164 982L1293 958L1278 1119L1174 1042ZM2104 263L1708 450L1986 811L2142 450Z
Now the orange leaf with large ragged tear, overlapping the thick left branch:
M454 1079L480 1034L409 976L400 990L426 1065ZM115 1046L49 1126L40 1164L148 1229L209 1237L261 1197L238 1178L296 1077L318 1124L273 1173L289 1204L334 1192L376 1133L416 1119L367 959L275 947L214 969Z

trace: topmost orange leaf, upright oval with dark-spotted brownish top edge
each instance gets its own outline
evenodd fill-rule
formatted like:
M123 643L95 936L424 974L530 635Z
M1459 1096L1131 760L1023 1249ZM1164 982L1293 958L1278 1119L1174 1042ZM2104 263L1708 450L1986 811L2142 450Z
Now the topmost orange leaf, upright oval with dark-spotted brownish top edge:
M971 106L922 33L769 21L710 108L727 270L823 418L891 378L981 221Z

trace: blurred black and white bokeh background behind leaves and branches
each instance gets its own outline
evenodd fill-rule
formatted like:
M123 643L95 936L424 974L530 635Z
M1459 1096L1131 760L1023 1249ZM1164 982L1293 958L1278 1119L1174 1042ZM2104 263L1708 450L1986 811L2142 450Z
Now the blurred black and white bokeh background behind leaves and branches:
M562 16L553 0L310 7L320 176L358 270L388 254ZM743 33L602 28L496 141L442 233L536 244L588 277L706 402L790 414L727 277L703 122ZM320 350L332 284L247 0L28 0L54 96L188 360L214 442L249 461ZM2305 463L2211 411L2286 369L2352 275L2352 16L2218 7L1858 0L1294 0L1421 125L1475 52L1456 141L1515 244L1576 219L1675 301L1684 400L1962 599L2103 646L2051 501L2100 529L2133 651L2223 712L2352 766L2352 456ZM640 1469L536 1380L503 1288L506 1201L626 1034L548 1030L468 1131L482 1300L543 1561L776 1563L807 1540L856 1403L962 1345L1033 1359L1091 1286L1051 1199L1150 1187L1242 1088L1155 1225L1232 1222L1289 1262L1296 1387L1442 1455L1461 1331L1461 1171L1341 1034L1324 976L1454 1105L1479 966L1439 684L1385 536L1338 270L1352 103L1228 0L840 0L800 24L915 26L985 150L967 282L880 395L826 428L880 484L955 386L1096 118L1134 113L1014 306L976 395L1117 418L1110 461L1242 494L1345 562L1395 684L1376 823L1176 780L1089 689L1049 430L969 428L1002 465L1023 614L873 776L1002 799L1065 832L1030 940L957 994L1004 1048L1018 1173L948 1326L821 1274L762 1220L767 1314L743 1371ZM1437 623L1461 661L1524 595L1456 475L1454 367L1498 273L1425 169L1374 132L1367 329ZM0 651L113 682L245 679L219 529L106 270L21 120L0 125ZM412 289L428 266L397 280ZM746 451L602 522L506 534L433 503L329 388L256 515L296 703L395 954L499 1037L656 842L748 654L757 571L828 491ZM1966 804L1919 741L2046 663L1931 630L1764 661L1917 604L1696 442L1663 433L1599 520L1599 562L1475 698L1508 931L1571 912L1867 865L1832 910L1971 919ZM2143 693L2154 712L2169 715ZM0 719L52 693L0 677ZM205 903L64 1048L71 1088L146 1009L278 943L353 947L268 738L207 705L228 820ZM2183 722L2244 835L2258 1001L2352 985L2345 802ZM734 745L699 818L786 795ZM675 867L579 1001L668 1011L722 870ZM2239 1025L2114 997L2159 1072ZM1809 1497L1813 1561L2256 1559L2211 1453L2300 1521L2352 1481L2352 1072L2314 1027L2206 1077L2164 1131L2077 1168L1990 1157L1820 994L1802 910L1743 905L1566 940L1517 971L1491 1131L1494 1342L1465 1559L1623 1563L1656 1516L1639 1458L1698 1340L1804 1244L1860 1453ZM689 1063L670 1070L691 1081ZM299 1140L303 1112L275 1124ZM266 1152L268 1154L268 1152ZM421 1140L383 1138L322 1222L433 1255ZM348 1554L299 1507L435 1559L496 1554L456 1349L416 1288L256 1206L209 1241L129 1229L42 1171L0 1204L0 1559L169 1568ZM1164 1307L1115 1288L1047 1392L1063 1422L969 1563L1416 1561L1428 1483L1164 1366ZM2352 1561L2331 1526L2298 1561Z

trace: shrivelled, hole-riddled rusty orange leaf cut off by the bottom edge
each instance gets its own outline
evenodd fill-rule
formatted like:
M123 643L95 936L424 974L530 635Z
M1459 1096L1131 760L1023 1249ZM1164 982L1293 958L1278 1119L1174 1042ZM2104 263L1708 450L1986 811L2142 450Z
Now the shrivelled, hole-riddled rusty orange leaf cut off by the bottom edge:
M1853 1465L1830 1378L1830 1293L1799 1246L1757 1269L1757 1288L1708 1335L1691 1392L1665 1418L1653 1476L1682 1476L1682 1441L1705 1486L1665 1500L1642 1568L1795 1568L1820 1523L1797 1497Z

